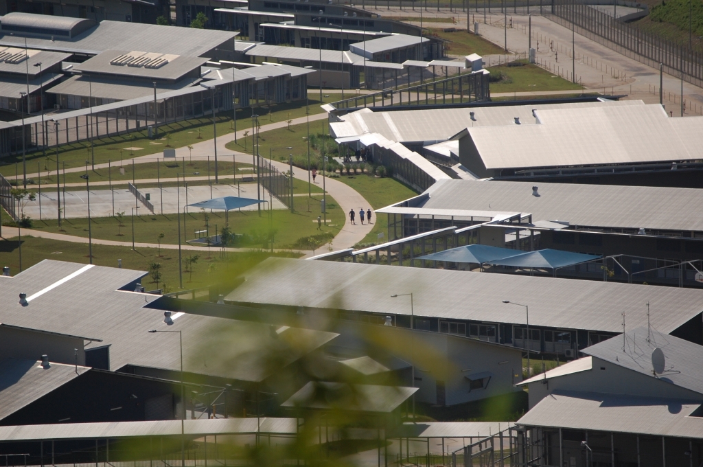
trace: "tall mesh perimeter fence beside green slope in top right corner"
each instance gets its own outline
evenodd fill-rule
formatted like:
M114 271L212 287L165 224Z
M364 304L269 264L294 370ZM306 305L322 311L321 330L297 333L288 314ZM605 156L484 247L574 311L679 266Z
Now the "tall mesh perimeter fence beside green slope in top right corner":
M545 15L569 29L573 26L577 34L628 58L652 68L659 68L661 63L668 75L683 75L686 82L703 86L703 53L683 43L638 30L592 6L574 1L554 0L552 12L545 11Z

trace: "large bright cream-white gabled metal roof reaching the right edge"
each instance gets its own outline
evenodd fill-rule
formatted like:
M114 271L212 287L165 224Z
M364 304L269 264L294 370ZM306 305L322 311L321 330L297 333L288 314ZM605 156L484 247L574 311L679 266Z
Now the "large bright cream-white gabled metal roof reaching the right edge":
M688 131L703 117L669 118L659 104L540 109L537 117L541 124L467 128L486 169L695 160L703 146L703 133ZM683 120L694 123L677 131Z

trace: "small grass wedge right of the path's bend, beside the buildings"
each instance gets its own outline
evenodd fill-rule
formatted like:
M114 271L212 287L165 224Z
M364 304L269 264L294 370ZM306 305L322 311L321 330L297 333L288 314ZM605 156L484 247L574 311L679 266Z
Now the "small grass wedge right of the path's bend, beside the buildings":
M373 210L380 209L387 205L397 203L413 196L417 196L411 188L392 178L377 178L368 175L356 175L352 177L343 176L337 179L347 184L361 193L361 196L371 203ZM384 243L388 241L388 217L385 214L374 215L371 219L373 229L359 242L361 245ZM384 237L378 239L378 234L383 233Z

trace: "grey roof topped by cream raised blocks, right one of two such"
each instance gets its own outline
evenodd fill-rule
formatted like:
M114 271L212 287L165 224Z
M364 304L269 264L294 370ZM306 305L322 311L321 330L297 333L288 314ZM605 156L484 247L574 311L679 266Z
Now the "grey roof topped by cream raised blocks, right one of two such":
M146 47L144 44L142 47ZM167 56L169 63L161 68L130 67L127 65L110 65L110 61L115 58L130 53L129 50L108 50L79 63L73 67L77 72L86 75L116 75L121 77L139 77L146 79L181 79L183 75L195 70L200 74L200 65L207 62L205 57ZM124 79L124 78L123 78Z

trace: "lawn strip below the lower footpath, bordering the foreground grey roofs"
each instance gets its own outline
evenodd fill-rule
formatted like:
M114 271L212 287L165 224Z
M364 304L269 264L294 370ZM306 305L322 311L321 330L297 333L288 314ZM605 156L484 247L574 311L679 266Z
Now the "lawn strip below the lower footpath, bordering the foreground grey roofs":
M227 253L221 257L219 250L212 249L210 257L207 252L183 250L183 259L198 255L198 262L186 271L183 264L183 288L197 288L221 284L223 290L231 290L232 279L244 271L262 262L269 256L298 257L296 253L271 252L236 252ZM136 252L130 247L93 245L93 264L117 267L117 260L122 260L125 269L148 271L149 264L161 264L162 279L155 283L152 276L143 281L146 290L165 288L174 292L179 286L178 250L161 250L158 256L156 248L137 248ZM60 260L88 264L88 244L56 241L48 238L33 238L22 235L22 269L27 269L42 260ZM0 240L0 264L9 266L11 274L18 274L19 249L18 238Z

